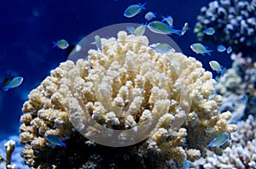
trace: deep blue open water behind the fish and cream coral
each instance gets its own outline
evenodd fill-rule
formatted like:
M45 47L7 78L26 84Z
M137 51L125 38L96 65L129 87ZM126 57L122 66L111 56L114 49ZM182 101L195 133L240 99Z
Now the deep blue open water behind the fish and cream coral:
M124 10L134 3L145 3L146 10L134 18L123 16ZM23 76L20 87L1 91L0 95L0 133L19 132L22 104L27 94L46 76L49 71L65 61L65 51L52 48L52 42L64 38L76 44L92 31L106 25L135 22L145 23L144 14L153 11L161 15L172 15L177 29L189 22L190 30L183 37L173 35L183 53L199 59L204 68L210 70L208 62L212 59L230 67L230 57L213 52L212 56L193 53L190 44L197 42L193 28L200 8L207 0L38 0L4 1L0 6L0 69L12 70L15 75ZM208 45L216 51L215 46ZM214 47L214 48L213 48Z

